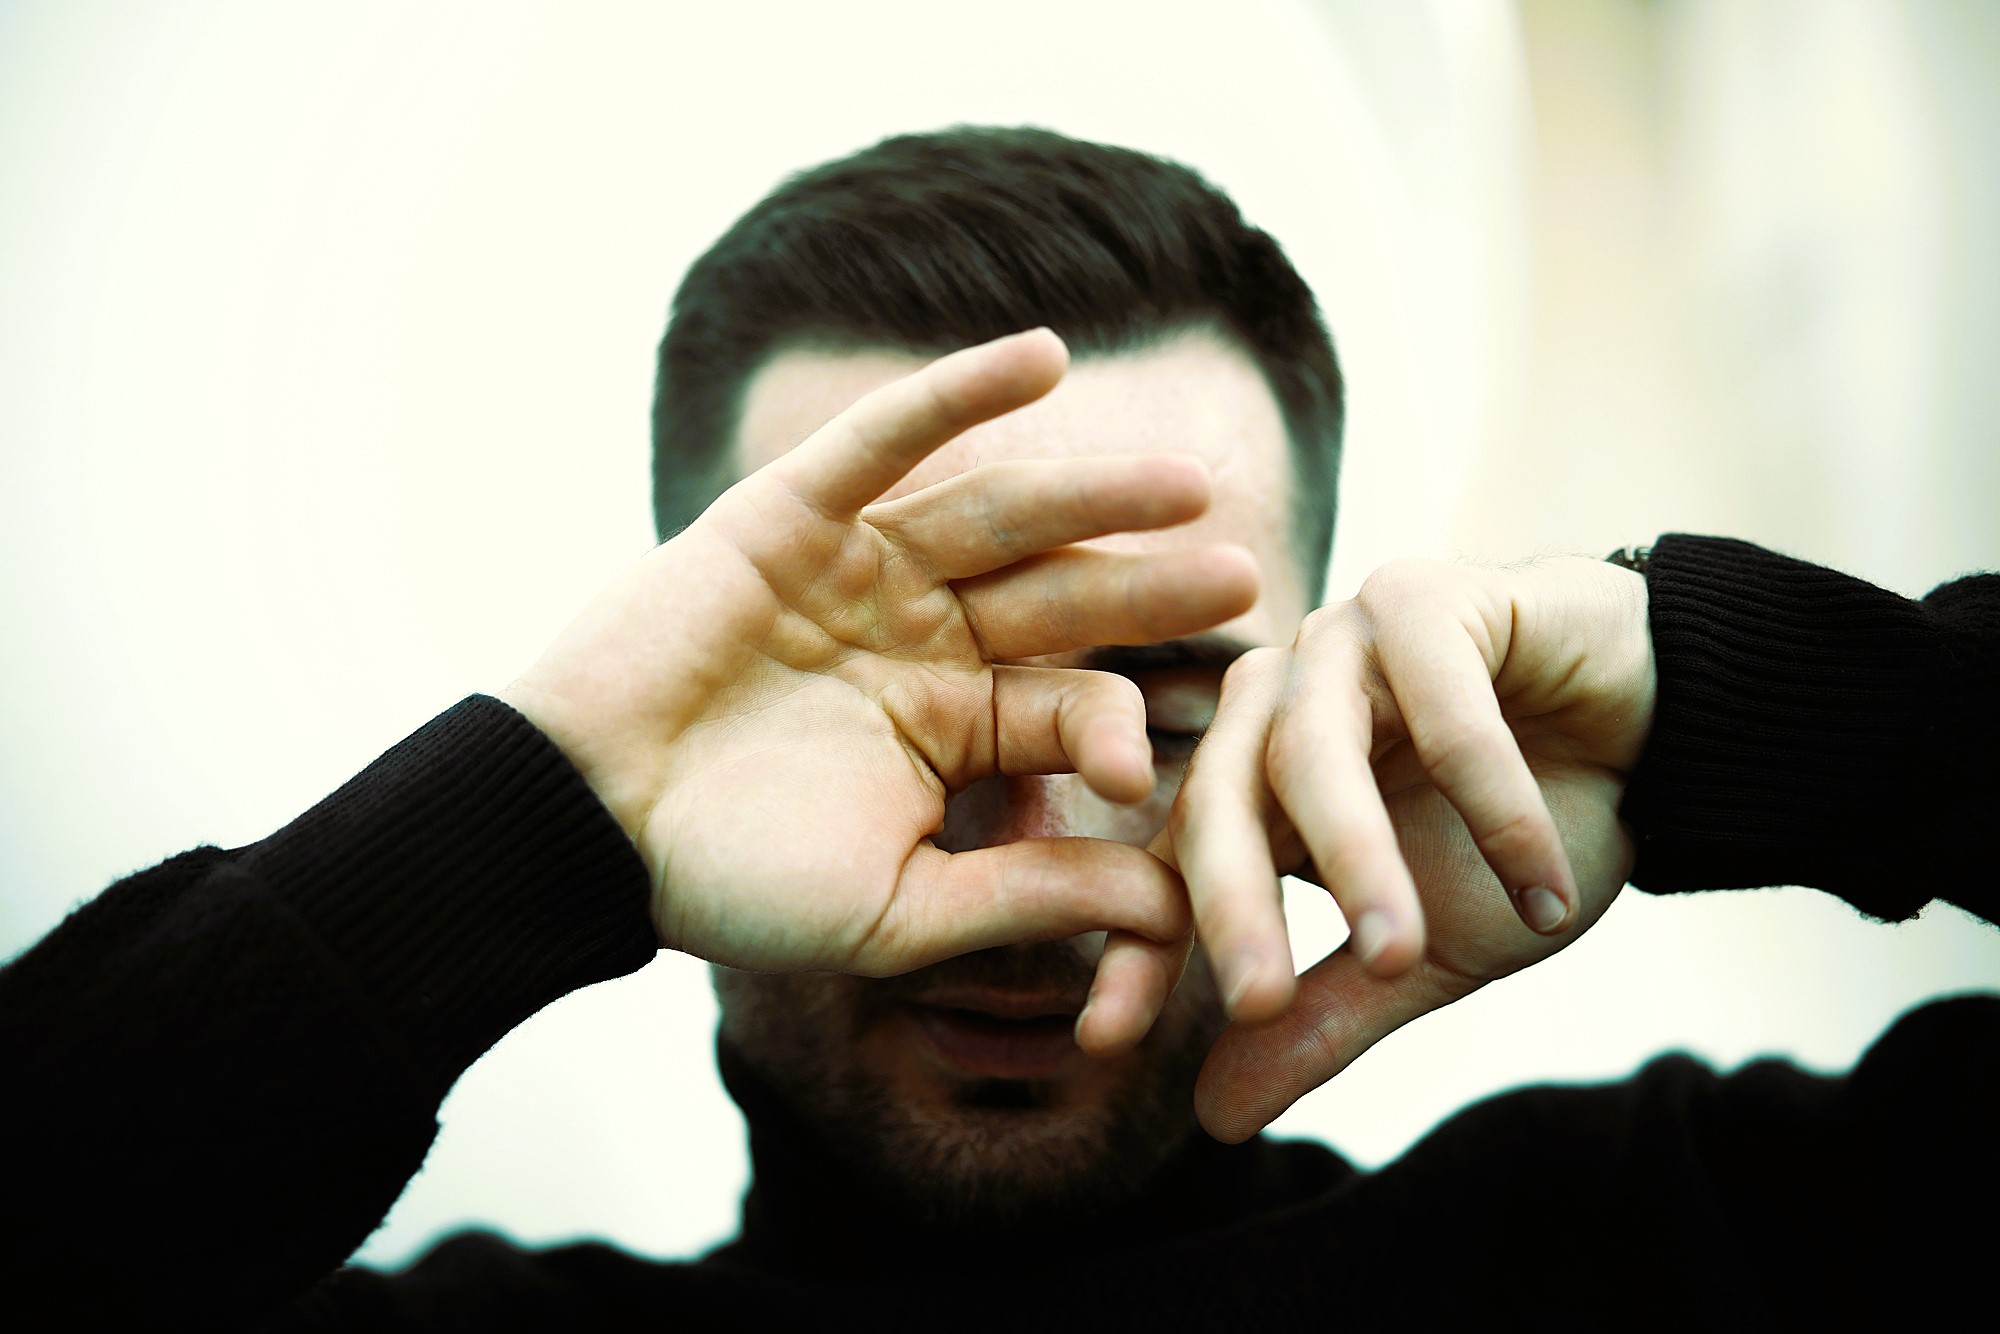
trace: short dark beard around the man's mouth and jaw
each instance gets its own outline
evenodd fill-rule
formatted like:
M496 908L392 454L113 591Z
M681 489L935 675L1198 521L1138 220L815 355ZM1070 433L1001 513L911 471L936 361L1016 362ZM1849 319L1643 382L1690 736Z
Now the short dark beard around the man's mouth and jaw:
M1054 1080L1004 1078L966 1080L948 1114L916 1110L840 1054L854 1052L874 1024L928 986L1084 994L1090 974L1074 950L1048 944L982 950L906 978L862 982L844 1042L820 1042L806 1026L784 1022L784 1014L812 1012L824 978L760 976L744 986L742 974L718 974L716 986L726 1000L724 1032L860 1188L912 1224L980 1234L1070 1228L1114 1210L1198 1134L1194 1076L1222 1028L1206 970L1190 968L1128 1062L1124 1084L1088 1110L1062 1106ZM750 1030L754 1044L742 1040Z

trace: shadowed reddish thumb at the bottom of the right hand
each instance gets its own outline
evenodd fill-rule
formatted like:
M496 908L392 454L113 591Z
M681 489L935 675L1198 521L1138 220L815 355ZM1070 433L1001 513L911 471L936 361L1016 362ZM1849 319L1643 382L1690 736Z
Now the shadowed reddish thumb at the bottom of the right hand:
M1462 990L1418 964L1394 978L1340 948L1298 978L1292 1008L1268 1024L1230 1024L1194 1084L1194 1114L1224 1144L1240 1144L1362 1052Z

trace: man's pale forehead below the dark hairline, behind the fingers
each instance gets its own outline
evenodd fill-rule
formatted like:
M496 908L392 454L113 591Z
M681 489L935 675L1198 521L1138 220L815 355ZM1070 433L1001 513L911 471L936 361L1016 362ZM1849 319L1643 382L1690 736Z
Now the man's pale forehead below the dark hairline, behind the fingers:
M856 398L926 358L874 348L792 346L744 386L738 476L778 458ZM1234 342L1192 330L1156 346L1088 356L1046 398L982 422L926 458L888 498L1010 458L1194 454L1208 464L1208 514L1164 532L1118 534L1096 546L1162 550L1236 542L1256 556L1258 604L1226 626L1256 642L1288 642L1306 614L1292 546L1292 462L1278 402Z

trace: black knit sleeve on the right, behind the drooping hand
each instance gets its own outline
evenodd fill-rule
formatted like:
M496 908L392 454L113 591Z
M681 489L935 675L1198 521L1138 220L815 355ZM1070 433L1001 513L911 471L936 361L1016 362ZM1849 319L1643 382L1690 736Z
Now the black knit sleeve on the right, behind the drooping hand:
M1660 696L1620 814L1654 894L1806 884L1878 918L1986 920L2000 576L1922 602L1726 538L1646 572Z

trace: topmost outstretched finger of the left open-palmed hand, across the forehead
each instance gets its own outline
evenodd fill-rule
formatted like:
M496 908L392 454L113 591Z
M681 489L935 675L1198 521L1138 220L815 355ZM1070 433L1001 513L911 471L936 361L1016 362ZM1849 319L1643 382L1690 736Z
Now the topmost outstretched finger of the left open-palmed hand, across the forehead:
M1046 328L942 356L862 396L768 474L828 518L852 518L952 436L1056 388L1070 352Z

